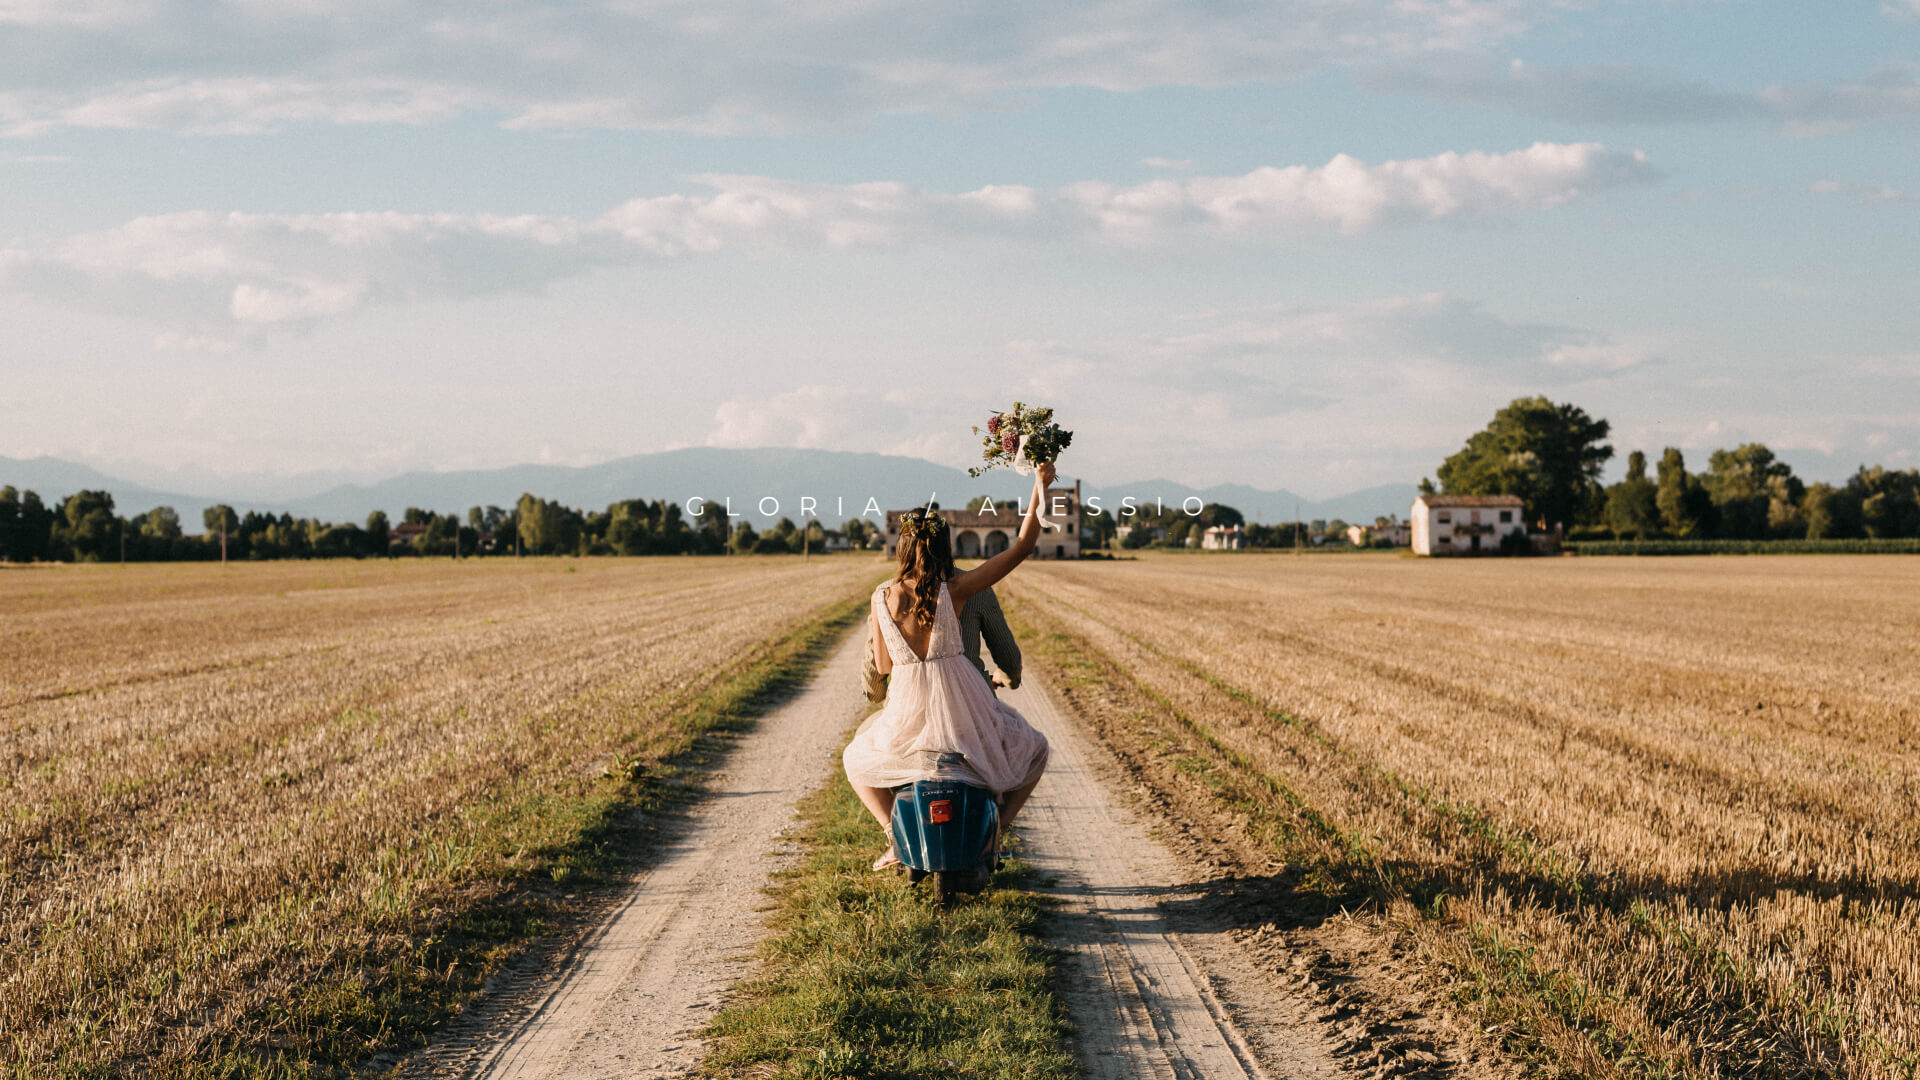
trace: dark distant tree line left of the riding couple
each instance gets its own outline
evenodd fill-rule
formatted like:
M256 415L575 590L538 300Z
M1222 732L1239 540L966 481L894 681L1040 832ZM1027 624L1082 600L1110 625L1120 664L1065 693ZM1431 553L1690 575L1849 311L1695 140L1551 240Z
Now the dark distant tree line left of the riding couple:
M0 561L209 561L209 559L367 559L486 555L720 555L826 552L829 530L780 519L758 532L730 523L724 503L705 500L685 515L666 500L620 500L582 511L532 494L511 507L476 505L465 517L407 507L399 523L372 511L363 525L290 513L238 513L219 503L188 532L167 505L123 517L109 492L83 490L46 503L36 492L0 488ZM864 548L879 527L852 519L831 532Z

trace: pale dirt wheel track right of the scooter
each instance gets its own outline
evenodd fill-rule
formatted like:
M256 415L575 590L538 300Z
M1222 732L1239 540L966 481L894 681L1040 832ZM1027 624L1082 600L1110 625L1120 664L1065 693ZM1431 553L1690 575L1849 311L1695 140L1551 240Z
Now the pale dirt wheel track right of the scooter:
M1194 899L1190 872L1112 790L1117 769L1043 688L1002 690L1052 744L1046 778L1020 817L1025 851L1062 897L1054 945L1094 1080L1336 1076L1332 1045L1304 999L1275 995L1225 934L1183 932L1162 905Z

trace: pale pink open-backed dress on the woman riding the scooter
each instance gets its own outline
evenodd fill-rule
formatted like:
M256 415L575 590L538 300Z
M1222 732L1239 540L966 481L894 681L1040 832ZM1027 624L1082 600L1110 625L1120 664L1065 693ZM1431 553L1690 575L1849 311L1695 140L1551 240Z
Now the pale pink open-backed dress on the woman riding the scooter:
M881 584L874 590L874 617L893 657L887 707L868 717L841 753L847 780L866 788L964 780L996 796L1037 780L1046 771L1046 736L1000 703L979 669L960 655L960 619L947 584L941 582L925 657L914 655L885 598ZM954 753L966 761L954 761Z

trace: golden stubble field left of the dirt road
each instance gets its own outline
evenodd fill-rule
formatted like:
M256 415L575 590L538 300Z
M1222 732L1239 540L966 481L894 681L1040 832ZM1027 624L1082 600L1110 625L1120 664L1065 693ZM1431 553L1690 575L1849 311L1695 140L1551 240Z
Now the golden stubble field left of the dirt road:
M444 1013L472 982L438 970L476 955L445 938L497 959L538 930L493 901L572 888L612 790L881 575L0 573L0 1074L309 1074L405 1045L422 995Z

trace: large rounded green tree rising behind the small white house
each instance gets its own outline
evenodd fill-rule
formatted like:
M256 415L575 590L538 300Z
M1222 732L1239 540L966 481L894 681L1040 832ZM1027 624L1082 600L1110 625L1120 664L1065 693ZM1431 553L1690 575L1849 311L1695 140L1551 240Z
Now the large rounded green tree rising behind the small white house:
M1440 486L1450 496L1521 496L1528 521L1574 525L1613 457L1609 430L1576 405L1517 398L1440 465Z

